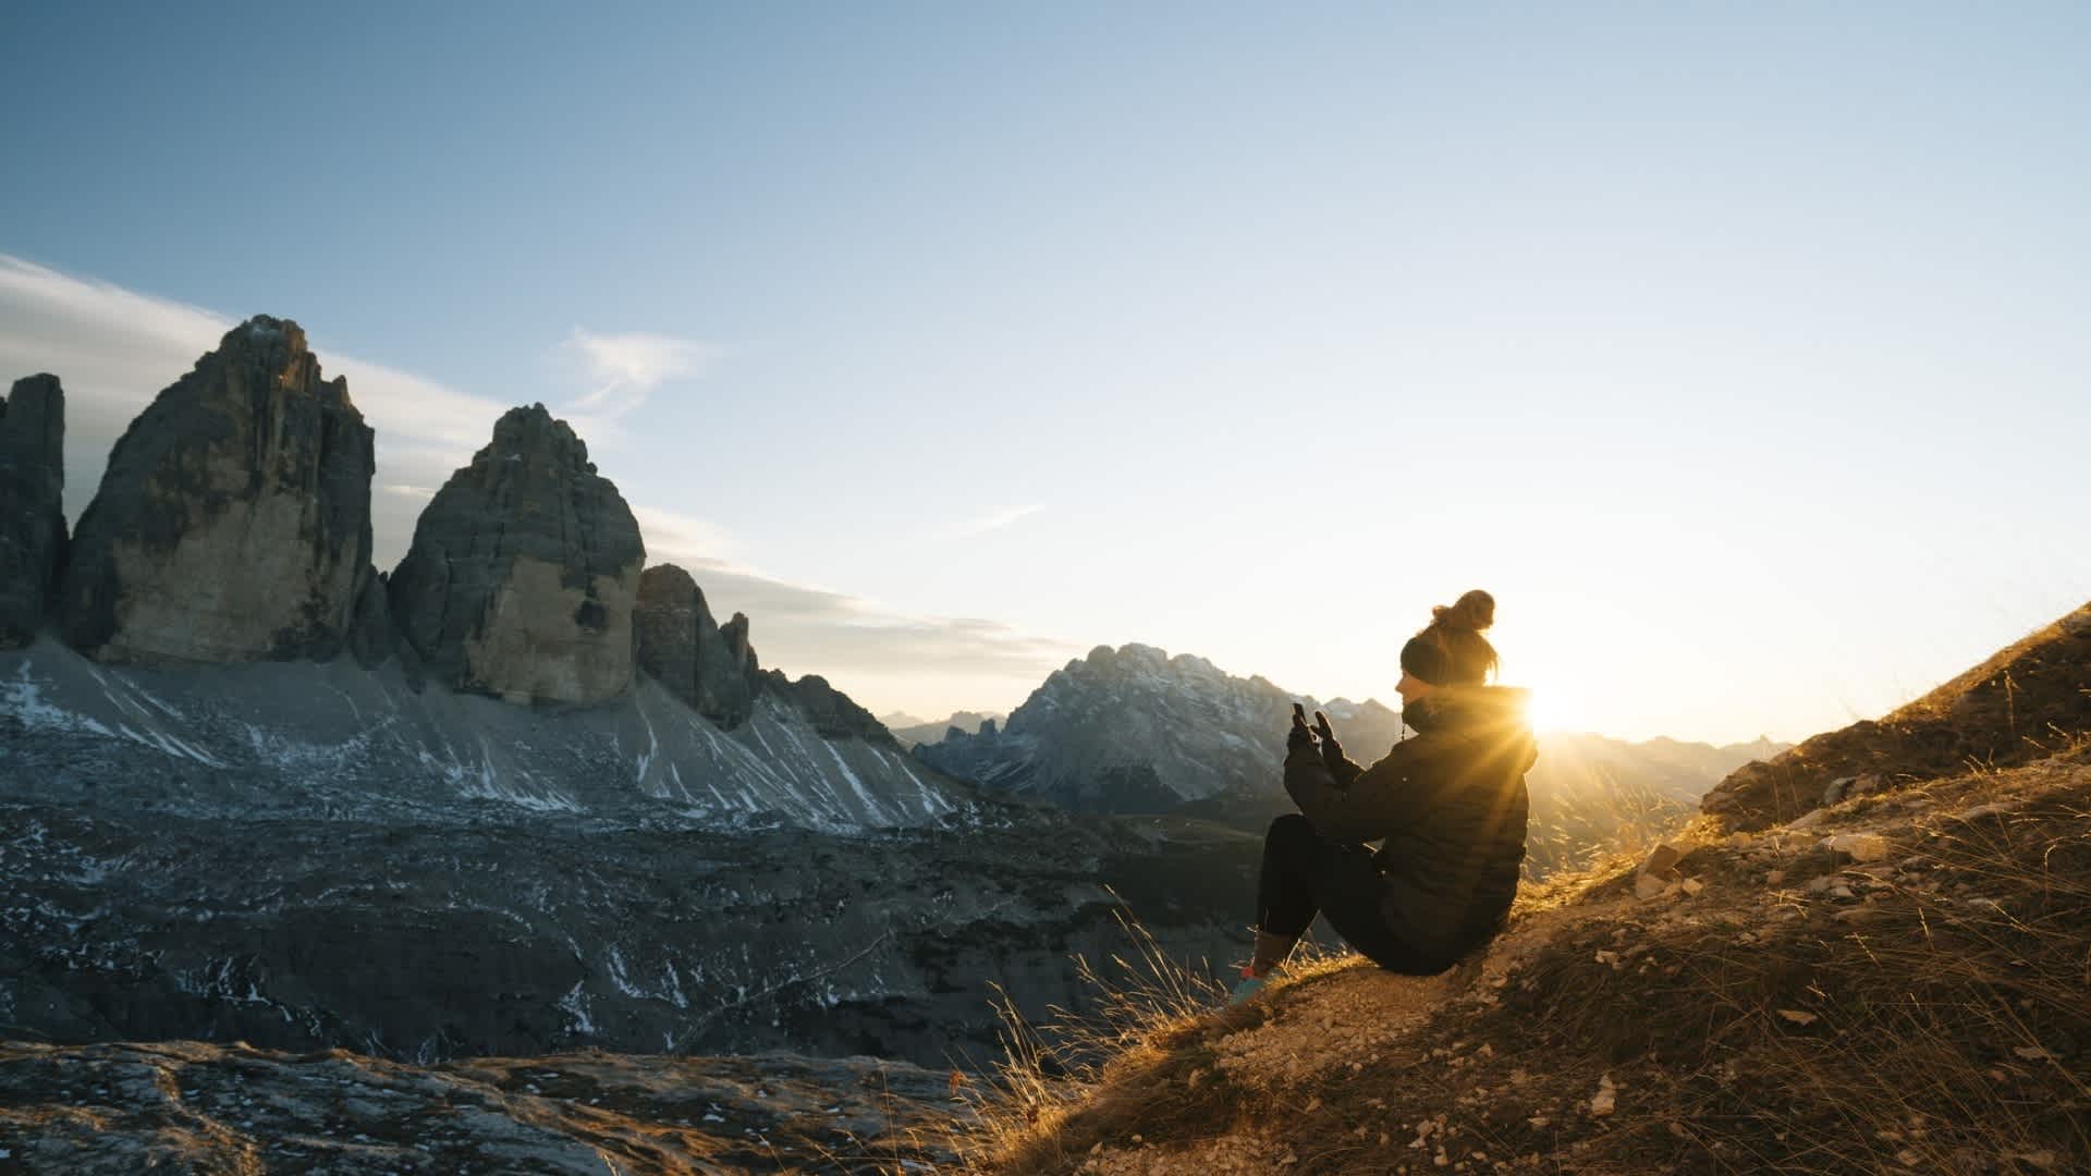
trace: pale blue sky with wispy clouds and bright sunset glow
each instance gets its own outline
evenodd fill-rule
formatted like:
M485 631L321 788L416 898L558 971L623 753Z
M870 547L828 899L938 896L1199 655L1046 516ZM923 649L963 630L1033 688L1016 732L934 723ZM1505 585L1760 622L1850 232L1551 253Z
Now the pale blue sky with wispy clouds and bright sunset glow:
M0 379L67 504L220 333L510 404L874 711L1129 640L1800 739L2091 601L2083 4L36 4Z

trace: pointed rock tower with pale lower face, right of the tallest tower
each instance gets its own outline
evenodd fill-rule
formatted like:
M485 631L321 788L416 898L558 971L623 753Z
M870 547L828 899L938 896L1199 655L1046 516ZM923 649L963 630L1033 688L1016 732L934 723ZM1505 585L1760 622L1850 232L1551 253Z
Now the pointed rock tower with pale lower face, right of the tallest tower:
M600 703L631 686L646 546L588 446L542 404L435 494L391 573L393 624L427 676L512 703Z

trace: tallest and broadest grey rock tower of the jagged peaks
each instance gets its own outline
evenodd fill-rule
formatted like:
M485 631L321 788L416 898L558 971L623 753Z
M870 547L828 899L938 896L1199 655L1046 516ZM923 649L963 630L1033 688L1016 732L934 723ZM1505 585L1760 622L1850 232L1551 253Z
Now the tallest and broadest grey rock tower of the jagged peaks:
M332 659L370 565L372 431L305 333L255 316L132 421L59 590L100 661Z

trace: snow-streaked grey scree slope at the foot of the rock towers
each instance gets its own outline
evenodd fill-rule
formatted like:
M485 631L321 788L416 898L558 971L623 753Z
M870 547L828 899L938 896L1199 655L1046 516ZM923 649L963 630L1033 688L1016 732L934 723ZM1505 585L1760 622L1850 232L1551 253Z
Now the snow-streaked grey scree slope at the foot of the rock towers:
M274 799L349 789L339 799L452 795L527 812L652 799L703 827L826 833L922 824L960 806L889 747L824 737L782 699L721 730L648 678L596 707L514 707L416 693L395 665L109 668L46 640L0 653L0 764L15 770L96 762L96 785L171 772L188 789Z

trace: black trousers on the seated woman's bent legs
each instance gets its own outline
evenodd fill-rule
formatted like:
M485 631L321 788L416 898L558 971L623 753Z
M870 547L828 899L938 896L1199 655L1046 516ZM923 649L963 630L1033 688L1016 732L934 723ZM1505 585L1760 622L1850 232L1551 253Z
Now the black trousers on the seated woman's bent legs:
M1263 835L1257 929L1299 940L1315 914L1388 971L1437 975L1451 967L1451 960L1411 948L1401 929L1386 923L1380 868L1372 864L1370 850L1330 841L1305 816L1288 812Z

